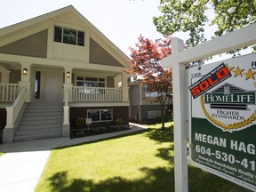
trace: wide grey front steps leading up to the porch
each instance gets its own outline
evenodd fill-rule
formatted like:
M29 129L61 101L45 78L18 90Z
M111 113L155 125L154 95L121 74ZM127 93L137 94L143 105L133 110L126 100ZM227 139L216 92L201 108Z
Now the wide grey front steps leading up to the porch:
M60 104L29 103L14 141L62 137L63 106Z

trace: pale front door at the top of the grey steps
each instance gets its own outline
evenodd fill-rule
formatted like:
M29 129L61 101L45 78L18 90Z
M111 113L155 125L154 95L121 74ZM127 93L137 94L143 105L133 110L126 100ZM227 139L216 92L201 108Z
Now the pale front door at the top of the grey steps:
M44 71L44 102L63 102L62 79L62 72Z

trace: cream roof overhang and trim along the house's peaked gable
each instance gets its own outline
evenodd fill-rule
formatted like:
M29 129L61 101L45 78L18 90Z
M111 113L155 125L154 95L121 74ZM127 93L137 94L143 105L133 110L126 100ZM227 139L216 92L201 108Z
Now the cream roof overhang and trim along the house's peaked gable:
M68 15L68 16L65 16ZM60 19L60 20L59 20ZM48 12L38 17L32 18L30 20L25 20L17 24L13 24L6 28L0 28L0 38L4 39L4 36L10 36L12 33L15 33L20 30L26 30L38 23L44 23L47 20L54 20L58 22L74 22L76 20L76 26L79 28L90 28L93 36L97 36L97 39L100 39L104 44L108 45L114 52L118 53L121 57L124 58L125 66L128 67L130 64L127 62L129 58L122 52L119 48L113 44L107 36L104 36L98 28L95 28L92 23L85 19L84 16L78 12L72 5L61 8L59 10ZM70 24L70 23L69 23ZM74 24L74 23L73 23Z

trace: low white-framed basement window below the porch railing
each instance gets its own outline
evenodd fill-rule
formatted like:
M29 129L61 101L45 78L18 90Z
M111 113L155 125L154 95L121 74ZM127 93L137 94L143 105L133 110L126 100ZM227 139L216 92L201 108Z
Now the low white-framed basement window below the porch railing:
M91 109L87 110L88 118L92 118L92 122L113 121L112 109Z

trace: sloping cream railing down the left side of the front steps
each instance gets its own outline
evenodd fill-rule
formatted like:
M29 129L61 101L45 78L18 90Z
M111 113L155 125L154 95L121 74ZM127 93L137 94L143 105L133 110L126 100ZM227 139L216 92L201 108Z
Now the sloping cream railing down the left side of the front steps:
M7 111L6 128L14 127L14 123L20 114L20 110L23 107L25 100L26 100L26 88L22 88L17 99L12 104L12 107L6 107L6 111Z

